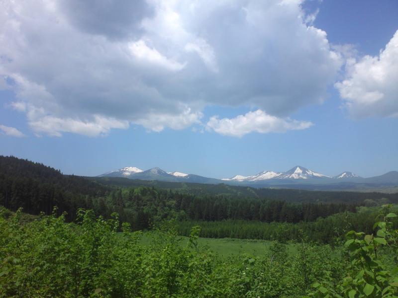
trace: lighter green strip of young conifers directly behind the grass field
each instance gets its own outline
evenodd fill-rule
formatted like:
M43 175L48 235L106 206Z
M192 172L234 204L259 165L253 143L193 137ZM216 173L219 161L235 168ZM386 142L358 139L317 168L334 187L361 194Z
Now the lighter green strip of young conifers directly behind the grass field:
M259 221L225 220L220 222L185 221L177 224L181 235L188 236L193 226L199 225L200 237L206 238L239 238L315 241L333 244L336 238L342 237L349 230L361 230L372 233L377 216L375 213L340 213L314 222L263 223Z

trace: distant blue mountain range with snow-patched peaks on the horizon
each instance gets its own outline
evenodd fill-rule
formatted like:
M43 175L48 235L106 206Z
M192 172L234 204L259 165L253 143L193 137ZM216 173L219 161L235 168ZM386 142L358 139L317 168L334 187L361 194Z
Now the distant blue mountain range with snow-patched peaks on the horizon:
M349 171L342 172L336 176L327 176L303 166L295 166L286 172L262 171L251 176L235 175L231 178L215 179L195 174L186 174L179 171L166 172L161 168L154 167L148 170L141 170L129 166L119 170L107 172L99 177L125 177L139 180L157 180L167 182L192 182L210 184L232 184L247 185L253 187L298 187L300 185L336 185L341 184L347 187L357 184L369 185L398 185L398 171L391 171L381 176L362 178ZM351 185L351 186L350 186Z

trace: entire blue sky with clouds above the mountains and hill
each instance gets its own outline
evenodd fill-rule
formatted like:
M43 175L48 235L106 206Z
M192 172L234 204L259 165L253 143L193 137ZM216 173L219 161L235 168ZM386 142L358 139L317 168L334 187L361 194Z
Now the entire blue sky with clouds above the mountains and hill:
M4 0L0 154L96 176L398 170L396 0Z

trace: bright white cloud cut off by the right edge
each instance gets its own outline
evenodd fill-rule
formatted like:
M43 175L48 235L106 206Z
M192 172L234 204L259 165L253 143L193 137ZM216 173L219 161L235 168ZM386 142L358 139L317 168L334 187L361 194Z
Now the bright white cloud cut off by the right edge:
M351 58L335 87L354 118L398 117L398 31L377 57Z

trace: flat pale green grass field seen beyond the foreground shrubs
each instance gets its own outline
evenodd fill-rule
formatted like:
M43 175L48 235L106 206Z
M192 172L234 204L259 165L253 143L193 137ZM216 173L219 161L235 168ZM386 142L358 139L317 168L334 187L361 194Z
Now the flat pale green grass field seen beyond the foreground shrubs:
M141 243L150 244L150 232L145 232L142 235ZM188 237L183 237L182 243L185 244L188 241ZM271 241L266 240L255 240L255 239L231 239L231 238L199 238L198 244L200 246L208 247L214 253L219 254L222 257L229 255L238 255L242 253L249 253L254 256L261 256L267 252L268 247L271 245ZM288 251L290 254L297 253L297 247L295 244L288 244Z

